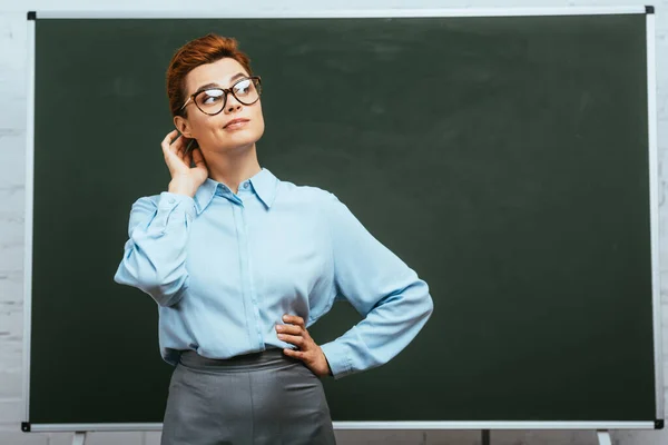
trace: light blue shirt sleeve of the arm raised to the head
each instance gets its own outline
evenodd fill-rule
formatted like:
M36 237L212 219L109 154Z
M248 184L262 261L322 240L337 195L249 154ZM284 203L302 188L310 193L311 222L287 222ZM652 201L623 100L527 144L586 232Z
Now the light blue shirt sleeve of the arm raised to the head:
M177 304L188 287L186 245L195 215L195 200L186 195L165 191L157 202L139 198L114 280L144 290L160 306Z

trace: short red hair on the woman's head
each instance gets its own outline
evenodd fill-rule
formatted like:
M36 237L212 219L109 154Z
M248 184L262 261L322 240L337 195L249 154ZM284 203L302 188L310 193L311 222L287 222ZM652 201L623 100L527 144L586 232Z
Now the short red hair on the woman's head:
M238 50L238 42L230 37L220 37L208 33L190 40L180 47L171 57L167 68L167 97L171 116L186 116L186 110L180 110L186 101L186 76L200 65L213 63L220 59L230 58L244 67L249 76L250 59Z

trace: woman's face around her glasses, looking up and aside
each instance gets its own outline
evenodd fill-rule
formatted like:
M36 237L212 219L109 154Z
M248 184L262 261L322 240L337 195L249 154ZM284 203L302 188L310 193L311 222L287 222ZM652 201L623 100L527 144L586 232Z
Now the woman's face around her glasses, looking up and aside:
M204 86L230 88L244 77L248 77L248 72L234 59L225 58L202 65L186 76L186 98ZM243 105L232 93L227 93L225 108L215 116L202 112L193 100L188 102L186 110L187 118L176 116L174 125L187 138L197 139L204 152L248 148L264 132L259 99L253 105ZM229 125L236 119L242 121Z

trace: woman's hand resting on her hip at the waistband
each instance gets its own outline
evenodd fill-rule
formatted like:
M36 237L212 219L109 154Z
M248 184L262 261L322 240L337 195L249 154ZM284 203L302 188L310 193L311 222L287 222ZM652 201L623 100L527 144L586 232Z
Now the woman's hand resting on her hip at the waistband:
M304 318L286 314L283 316L283 322L286 324L276 325L278 339L299 348L298 350L285 348L283 353L288 357L304 362L308 369L320 377L331 375L327 358L321 347L308 335Z

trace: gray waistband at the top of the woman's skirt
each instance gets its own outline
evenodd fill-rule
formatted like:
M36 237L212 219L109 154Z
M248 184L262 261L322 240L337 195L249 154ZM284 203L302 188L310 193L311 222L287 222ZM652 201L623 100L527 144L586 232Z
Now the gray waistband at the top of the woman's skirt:
M189 368L225 373L273 369L298 363L302 362L286 356L279 348L237 355L232 358L208 358L200 356L195 350L184 350L179 358L179 364Z

